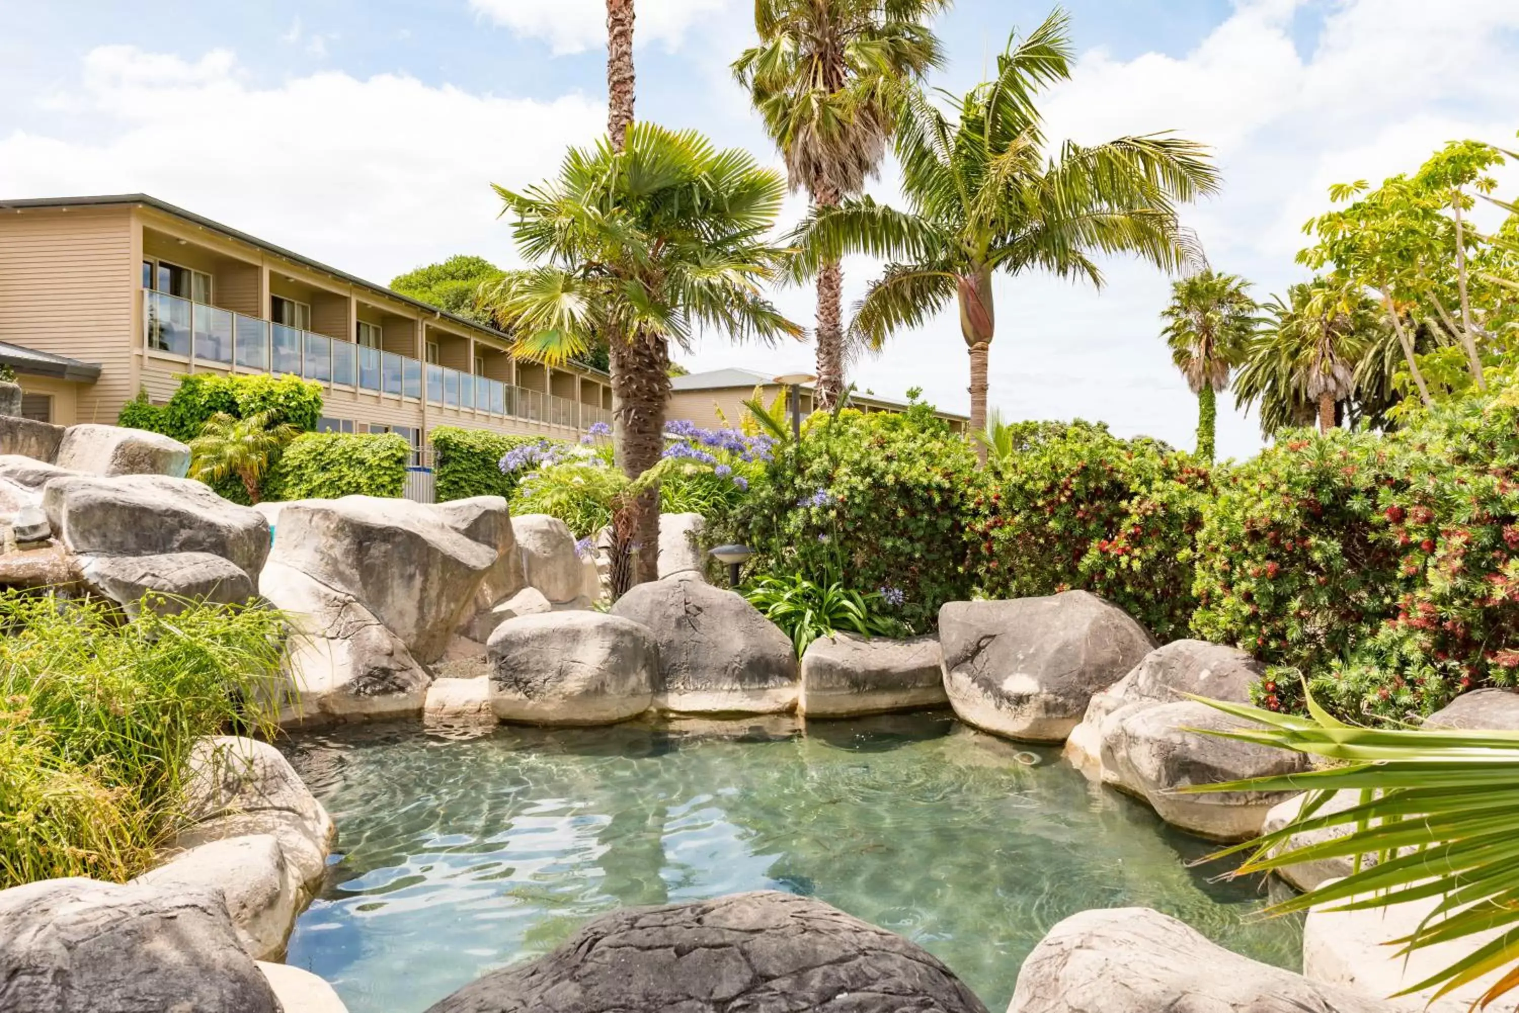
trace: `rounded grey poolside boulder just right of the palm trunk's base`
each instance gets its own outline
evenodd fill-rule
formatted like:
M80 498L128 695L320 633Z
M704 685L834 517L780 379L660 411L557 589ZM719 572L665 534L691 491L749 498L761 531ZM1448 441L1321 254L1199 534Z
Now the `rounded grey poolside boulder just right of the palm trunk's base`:
M612 615L653 632L661 711L775 714L796 706L790 638L735 591L676 574L633 586Z

